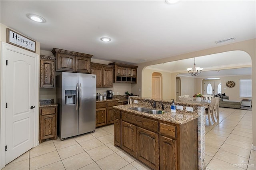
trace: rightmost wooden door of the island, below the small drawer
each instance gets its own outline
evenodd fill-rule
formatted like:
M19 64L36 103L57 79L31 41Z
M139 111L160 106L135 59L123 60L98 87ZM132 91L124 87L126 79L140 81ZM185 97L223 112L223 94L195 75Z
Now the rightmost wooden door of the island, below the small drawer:
M166 138L160 135L159 137L159 160L161 170L176 170L177 169L177 148L176 140Z

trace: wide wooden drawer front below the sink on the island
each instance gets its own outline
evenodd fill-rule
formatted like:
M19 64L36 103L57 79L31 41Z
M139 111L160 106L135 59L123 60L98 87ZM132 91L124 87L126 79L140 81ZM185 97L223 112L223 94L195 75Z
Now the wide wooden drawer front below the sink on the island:
M144 117L131 115L130 113L122 112L122 120L137 125L139 127L152 130L153 132L159 132L158 121L146 119Z

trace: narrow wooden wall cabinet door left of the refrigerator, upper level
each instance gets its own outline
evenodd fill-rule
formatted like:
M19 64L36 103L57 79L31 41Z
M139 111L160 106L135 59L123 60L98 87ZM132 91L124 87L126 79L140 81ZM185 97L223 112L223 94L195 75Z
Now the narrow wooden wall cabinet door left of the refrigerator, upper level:
M54 61L40 60L40 87L54 87Z

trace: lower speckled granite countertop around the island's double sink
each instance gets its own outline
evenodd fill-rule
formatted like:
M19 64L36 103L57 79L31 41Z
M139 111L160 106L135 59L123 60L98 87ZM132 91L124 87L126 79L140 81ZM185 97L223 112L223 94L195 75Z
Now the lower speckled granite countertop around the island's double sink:
M163 113L163 114L160 114L160 115L153 115L153 114L150 114L150 113L144 113L144 112L134 111L134 110L130 109L130 108L134 108L134 107L144 107L144 106L138 106L138 105L113 106L114 109L119 109L121 111L126 111L126 112L130 112L130 113L134 113L136 115L142 115L142 116L154 118L154 119L158 119L158 120L161 120L161 121L175 123L175 124L178 124L178 125L185 124L189 121L192 121L192 120L198 118L198 115L196 115L196 114L182 113L182 112L179 112L179 111L176 111L176 113L172 113L170 110L164 110L164 111L167 111L167 112ZM152 109L152 107L149 108L149 109Z

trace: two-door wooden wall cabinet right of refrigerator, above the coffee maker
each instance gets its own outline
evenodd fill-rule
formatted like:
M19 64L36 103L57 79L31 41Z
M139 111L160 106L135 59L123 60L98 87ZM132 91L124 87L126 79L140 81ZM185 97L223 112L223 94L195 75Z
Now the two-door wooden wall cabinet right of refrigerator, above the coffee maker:
M96 87L113 87L113 65L91 63L91 73L96 74Z

